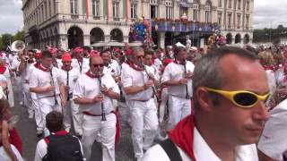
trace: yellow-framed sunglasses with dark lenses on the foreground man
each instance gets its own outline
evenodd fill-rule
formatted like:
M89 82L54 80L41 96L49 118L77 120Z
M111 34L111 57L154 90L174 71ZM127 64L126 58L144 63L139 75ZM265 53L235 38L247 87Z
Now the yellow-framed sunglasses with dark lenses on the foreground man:
M211 89L207 87L203 87L203 88L208 91L218 93L222 95L223 97L230 99L230 101L234 105L240 106L243 108L253 107L257 105L259 101L265 102L270 96L270 93L267 93L265 95L257 95L256 93L248 91L248 90L226 91L226 90L220 90L220 89Z

